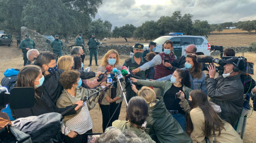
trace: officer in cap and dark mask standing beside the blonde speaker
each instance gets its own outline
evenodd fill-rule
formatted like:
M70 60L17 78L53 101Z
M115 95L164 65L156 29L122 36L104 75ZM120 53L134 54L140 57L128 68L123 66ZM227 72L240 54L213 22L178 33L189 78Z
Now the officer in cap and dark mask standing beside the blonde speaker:
M133 48L134 56L130 59L125 60L125 63L123 63L123 66L126 66L127 68L130 68L130 70L136 69L140 66L142 66L144 63L148 62L144 57L142 57L143 52L143 44L136 43ZM146 78L146 75L149 73L150 69L147 69L145 71L140 71L140 77ZM126 82L128 84L129 82ZM137 83L134 83L137 87L137 89L140 89L142 86L139 86ZM131 98L136 96L136 93L133 92L131 89L131 85L126 85L126 100L127 102L130 101Z

